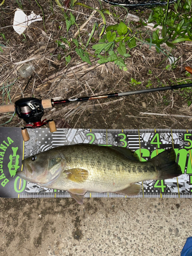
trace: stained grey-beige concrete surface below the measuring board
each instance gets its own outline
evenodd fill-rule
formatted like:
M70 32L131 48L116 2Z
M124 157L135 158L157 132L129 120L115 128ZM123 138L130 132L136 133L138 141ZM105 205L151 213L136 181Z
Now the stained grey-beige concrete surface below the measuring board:
M0 255L180 255L190 199L0 199Z

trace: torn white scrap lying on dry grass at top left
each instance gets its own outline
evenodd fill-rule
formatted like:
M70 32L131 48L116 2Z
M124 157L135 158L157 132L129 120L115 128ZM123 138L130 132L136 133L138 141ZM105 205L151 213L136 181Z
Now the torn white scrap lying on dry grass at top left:
M33 11L27 16L22 10L17 8L13 20L13 28L19 35L21 35L32 22L37 22L39 20L42 20L42 18L40 15L35 15Z

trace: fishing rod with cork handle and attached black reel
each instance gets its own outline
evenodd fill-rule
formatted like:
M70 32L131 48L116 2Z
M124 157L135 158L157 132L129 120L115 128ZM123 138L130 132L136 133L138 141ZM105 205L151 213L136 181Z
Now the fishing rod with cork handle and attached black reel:
M188 68L188 70L186 69ZM190 67L186 67L185 69L192 74L192 69ZM42 116L44 116L44 109L53 108L55 105L63 104L63 103L71 103L71 102L79 102L79 101L90 101L96 99L106 99L113 97L122 97L128 95L135 94L143 94L143 93L152 93L152 92L160 92L167 90L177 90L181 88L192 87L192 83L186 84L177 84L175 86L167 86L167 87L158 87L158 88L149 88L138 91L130 91L130 92L122 92L122 93L112 93L105 95L97 95L97 96L88 96L88 97L80 97L80 98L72 98L72 99L62 99L62 100L53 100L53 99L36 99L36 98L23 98L15 101L14 104L2 105L0 106L0 113L8 113L8 112L16 112L19 118L24 119L26 122L26 126L22 127L22 135L24 141L29 140L29 134L27 132L28 129L35 129L46 124L49 124L50 132L56 131L55 122L53 119L47 120L44 119L41 121Z

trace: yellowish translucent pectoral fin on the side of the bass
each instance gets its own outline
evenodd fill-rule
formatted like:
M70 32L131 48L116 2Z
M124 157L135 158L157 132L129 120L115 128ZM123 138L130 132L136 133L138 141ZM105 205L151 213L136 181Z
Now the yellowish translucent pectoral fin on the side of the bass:
M88 170L84 170L80 168L65 170L63 174L66 175L66 178L68 180L71 180L77 183L85 182L89 176Z

